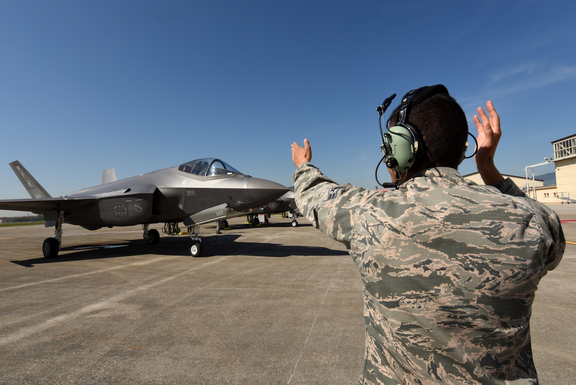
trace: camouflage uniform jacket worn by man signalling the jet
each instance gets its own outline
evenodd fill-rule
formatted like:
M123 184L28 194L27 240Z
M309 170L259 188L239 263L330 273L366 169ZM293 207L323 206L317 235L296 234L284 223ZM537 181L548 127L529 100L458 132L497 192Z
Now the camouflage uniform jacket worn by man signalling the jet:
M510 179L498 190L453 168L392 191L338 186L310 163L292 178L301 212L362 277L360 384L538 383L529 320L566 247L556 213Z

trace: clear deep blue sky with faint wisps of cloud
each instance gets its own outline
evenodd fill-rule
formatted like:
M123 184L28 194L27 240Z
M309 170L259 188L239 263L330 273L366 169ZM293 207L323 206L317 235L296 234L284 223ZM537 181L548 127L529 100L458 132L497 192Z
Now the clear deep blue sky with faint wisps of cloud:
M377 105L438 83L472 132L494 101L497 165L522 175L576 131L575 17L567 1L0 2L0 199L29 197L14 160L52 196L200 157L291 186L305 137L326 175L374 188Z

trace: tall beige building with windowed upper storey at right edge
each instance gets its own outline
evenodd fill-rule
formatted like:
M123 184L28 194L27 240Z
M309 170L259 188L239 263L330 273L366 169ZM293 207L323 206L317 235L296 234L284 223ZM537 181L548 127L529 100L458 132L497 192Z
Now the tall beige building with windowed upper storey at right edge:
M576 134L552 142L558 193L576 199Z

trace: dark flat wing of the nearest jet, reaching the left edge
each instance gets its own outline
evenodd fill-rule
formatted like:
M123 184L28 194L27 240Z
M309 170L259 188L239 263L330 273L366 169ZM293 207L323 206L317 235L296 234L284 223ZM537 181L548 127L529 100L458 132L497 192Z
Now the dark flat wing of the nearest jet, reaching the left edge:
M74 212L96 202L96 198L35 198L35 199L2 199L0 210L29 211L43 214L47 210L64 210Z

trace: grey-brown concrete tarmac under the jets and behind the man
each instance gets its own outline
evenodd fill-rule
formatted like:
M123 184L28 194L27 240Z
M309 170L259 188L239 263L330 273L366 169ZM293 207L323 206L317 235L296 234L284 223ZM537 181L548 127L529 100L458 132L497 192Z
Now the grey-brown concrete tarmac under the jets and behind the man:
M362 284L343 245L304 218L243 221L202 227L203 258L187 236L64 225L45 259L52 228L0 228L0 384L355 384ZM576 222L564 232L576 242ZM533 307L544 385L576 384L576 245L566 256Z

